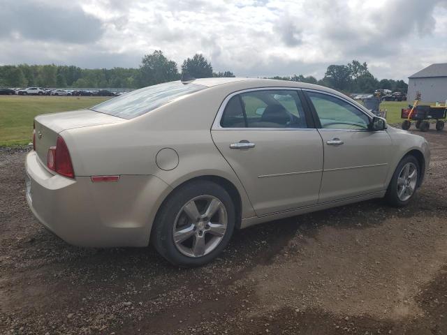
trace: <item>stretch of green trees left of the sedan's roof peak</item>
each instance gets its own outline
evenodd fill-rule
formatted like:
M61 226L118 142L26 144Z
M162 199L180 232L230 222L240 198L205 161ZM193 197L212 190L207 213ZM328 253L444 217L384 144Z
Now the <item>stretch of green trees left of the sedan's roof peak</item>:
M196 78L234 77L230 71L214 72L202 54L185 59L179 73L175 61L160 50L142 58L139 68L80 68L78 66L28 65L0 66L0 87L113 87L140 88L179 80L189 73Z

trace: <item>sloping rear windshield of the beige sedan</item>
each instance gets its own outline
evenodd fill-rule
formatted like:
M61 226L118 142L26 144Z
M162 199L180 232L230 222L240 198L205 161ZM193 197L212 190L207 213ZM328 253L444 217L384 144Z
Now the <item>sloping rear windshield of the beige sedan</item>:
M206 86L193 83L166 82L123 94L89 109L113 115L114 117L133 119L165 105L175 98L186 96L202 89L206 89Z

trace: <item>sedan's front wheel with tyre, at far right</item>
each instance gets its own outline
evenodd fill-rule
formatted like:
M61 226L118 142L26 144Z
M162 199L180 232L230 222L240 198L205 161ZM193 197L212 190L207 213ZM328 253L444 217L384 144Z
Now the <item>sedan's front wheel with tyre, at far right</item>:
M416 193L419 175L418 160L411 155L402 158L386 191L387 202L396 207L403 207L408 204Z

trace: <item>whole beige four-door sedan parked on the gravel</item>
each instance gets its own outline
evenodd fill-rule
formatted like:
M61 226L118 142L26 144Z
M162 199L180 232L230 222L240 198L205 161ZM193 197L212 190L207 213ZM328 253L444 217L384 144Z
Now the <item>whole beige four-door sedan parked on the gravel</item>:
M235 228L386 198L423 181L423 137L337 91L244 78L168 82L39 115L27 201L78 246L153 244L175 265L215 258Z

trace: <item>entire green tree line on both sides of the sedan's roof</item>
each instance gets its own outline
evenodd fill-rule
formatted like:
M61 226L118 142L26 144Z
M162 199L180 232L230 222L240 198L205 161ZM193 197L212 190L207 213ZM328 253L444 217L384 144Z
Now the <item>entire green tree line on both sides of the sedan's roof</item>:
M212 64L203 54L185 59L179 71L175 61L168 59L161 50L156 50L142 57L139 68L90 69L54 64L0 66L0 87L140 88L179 80L186 74L196 78L235 77L229 70L214 72ZM403 80L378 80L369 72L366 63L361 64L356 60L347 65L328 66L321 80L312 75L275 76L271 79L308 82L356 93L372 93L375 89L406 91L408 86Z

